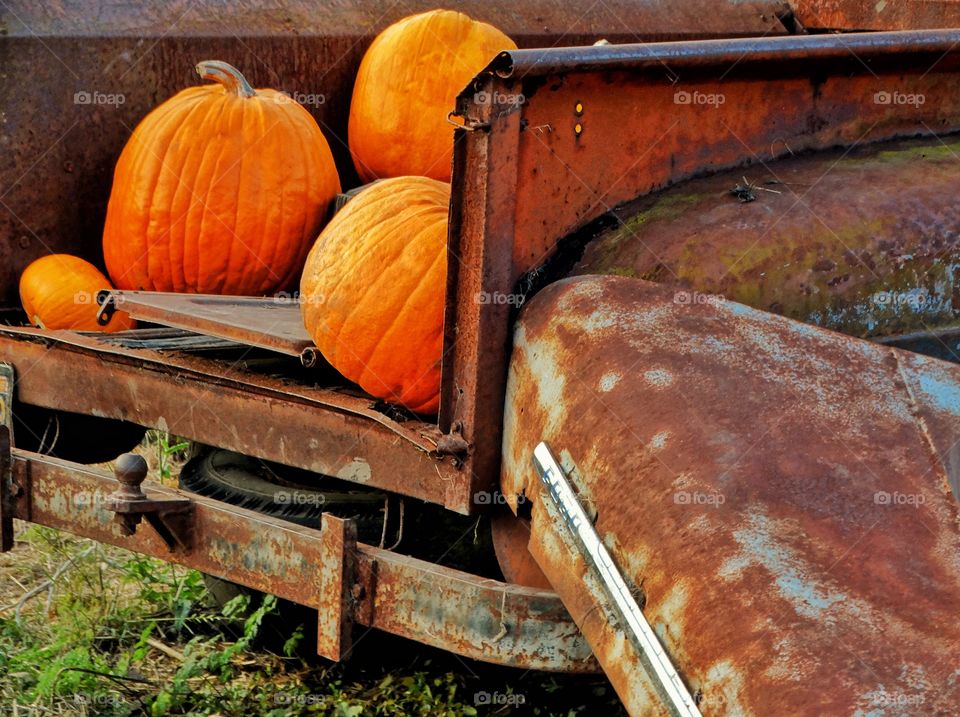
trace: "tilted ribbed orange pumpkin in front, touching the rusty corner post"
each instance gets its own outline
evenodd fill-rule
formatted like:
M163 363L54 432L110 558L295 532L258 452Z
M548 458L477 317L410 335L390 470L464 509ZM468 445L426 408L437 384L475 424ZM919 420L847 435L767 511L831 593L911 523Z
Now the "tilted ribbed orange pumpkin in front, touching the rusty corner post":
M367 393L416 413L440 404L450 185L378 182L340 210L307 257L300 300L324 357Z

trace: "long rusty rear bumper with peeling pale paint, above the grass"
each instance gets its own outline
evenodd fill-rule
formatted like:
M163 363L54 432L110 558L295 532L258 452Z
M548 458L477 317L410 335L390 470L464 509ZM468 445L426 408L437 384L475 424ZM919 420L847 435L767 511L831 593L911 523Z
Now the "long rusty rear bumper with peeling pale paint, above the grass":
M322 636L344 636L344 623L355 619L496 664L597 670L589 646L552 592L478 578L362 543L351 551L351 537L332 535L327 522L323 530L314 530L146 483L152 498L192 501L190 532L199 539L188 550L171 551L149 525L123 534L106 508L118 483L104 471L18 450L12 458L15 517L317 608ZM340 576L339 587L324 584L333 573ZM331 602L334 592L345 596ZM336 645L320 644L334 654ZM344 643L339 647L344 654Z

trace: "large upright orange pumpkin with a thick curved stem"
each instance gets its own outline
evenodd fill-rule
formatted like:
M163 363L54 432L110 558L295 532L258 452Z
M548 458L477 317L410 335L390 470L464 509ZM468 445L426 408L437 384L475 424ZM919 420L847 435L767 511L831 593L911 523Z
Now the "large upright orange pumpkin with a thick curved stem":
M331 200L333 156L310 114L236 68L153 110L124 147L103 233L121 289L269 294L296 281Z

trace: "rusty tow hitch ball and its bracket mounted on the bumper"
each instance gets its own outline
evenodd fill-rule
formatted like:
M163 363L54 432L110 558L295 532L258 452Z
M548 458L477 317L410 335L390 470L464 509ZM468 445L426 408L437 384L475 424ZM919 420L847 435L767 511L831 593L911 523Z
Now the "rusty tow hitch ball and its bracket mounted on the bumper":
M112 510L124 535L133 535L143 518L167 544L170 550L189 551L192 543L193 501L189 498L156 500L143 492L147 462L135 453L124 453L117 459L114 475L120 488L107 496L104 508Z

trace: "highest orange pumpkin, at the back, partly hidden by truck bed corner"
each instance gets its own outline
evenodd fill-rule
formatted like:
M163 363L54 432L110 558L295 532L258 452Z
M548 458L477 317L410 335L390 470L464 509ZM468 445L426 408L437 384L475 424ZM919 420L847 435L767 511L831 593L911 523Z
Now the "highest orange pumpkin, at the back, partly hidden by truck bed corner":
M513 40L452 10L400 20L370 45L350 105L350 152L364 181L450 180L457 94Z

